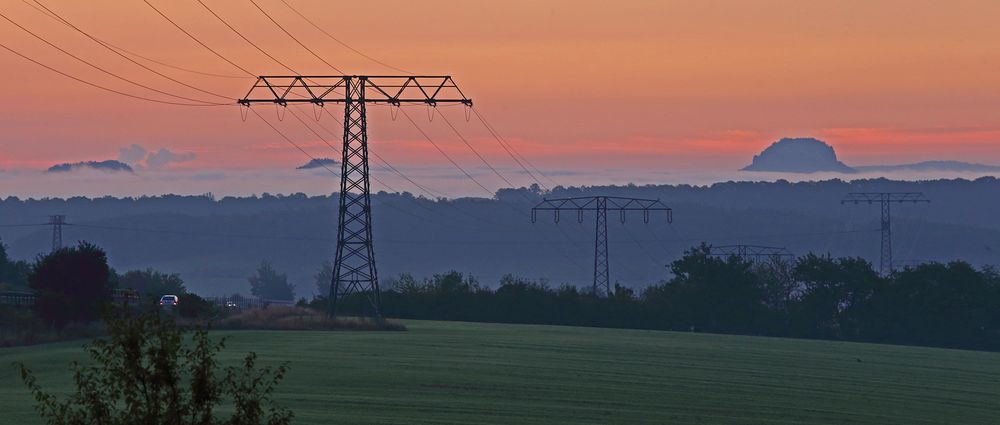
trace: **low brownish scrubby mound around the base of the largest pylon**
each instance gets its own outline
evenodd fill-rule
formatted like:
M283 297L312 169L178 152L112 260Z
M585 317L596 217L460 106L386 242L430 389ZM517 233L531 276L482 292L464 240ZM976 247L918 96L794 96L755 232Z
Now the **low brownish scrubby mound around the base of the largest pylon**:
M402 323L385 319L337 317L305 307L247 310L216 322L221 329L405 331Z

